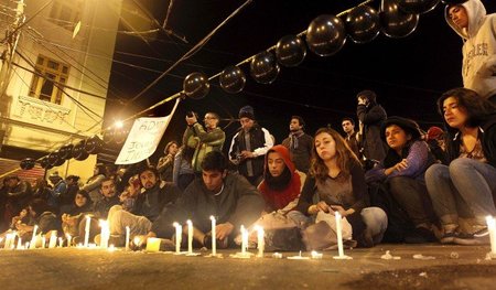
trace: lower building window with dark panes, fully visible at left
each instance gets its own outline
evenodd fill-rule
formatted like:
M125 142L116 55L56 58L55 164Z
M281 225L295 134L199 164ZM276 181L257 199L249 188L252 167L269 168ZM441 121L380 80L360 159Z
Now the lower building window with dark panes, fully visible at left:
M62 89L67 83L68 66L50 57L40 55L36 60L36 73L33 75L30 87L30 96L41 100L62 103Z

